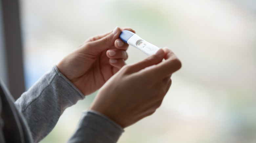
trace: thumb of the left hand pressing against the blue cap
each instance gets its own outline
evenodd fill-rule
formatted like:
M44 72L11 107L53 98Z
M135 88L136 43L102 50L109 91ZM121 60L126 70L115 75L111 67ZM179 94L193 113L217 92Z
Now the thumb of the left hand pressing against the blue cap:
M114 46L115 40L119 38L121 29L117 26L111 33L105 35L104 37L89 42L89 47L93 51L102 52L112 46Z

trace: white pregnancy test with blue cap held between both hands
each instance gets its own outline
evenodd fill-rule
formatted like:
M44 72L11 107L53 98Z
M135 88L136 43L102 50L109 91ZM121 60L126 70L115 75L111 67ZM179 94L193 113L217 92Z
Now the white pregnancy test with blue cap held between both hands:
M128 30L123 30L120 34L120 38L124 42L134 46L135 48L139 49L140 51L149 56L156 54L159 50L157 46L143 40L137 34Z

